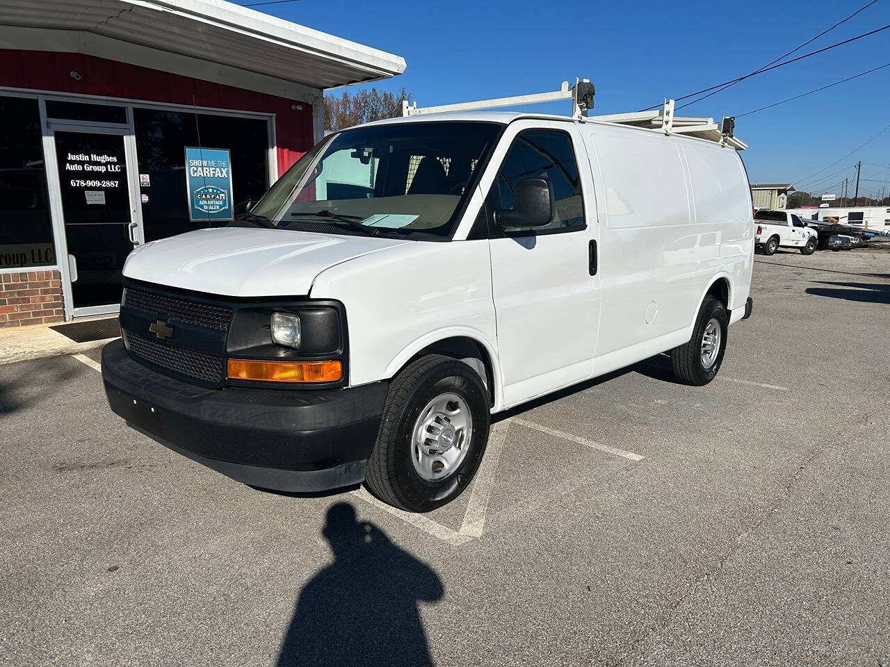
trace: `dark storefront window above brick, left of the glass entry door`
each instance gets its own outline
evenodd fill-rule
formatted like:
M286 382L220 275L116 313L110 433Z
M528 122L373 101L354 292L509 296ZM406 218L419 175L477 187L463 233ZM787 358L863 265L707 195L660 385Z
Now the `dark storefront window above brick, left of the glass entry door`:
M0 269L55 264L37 100L0 95Z

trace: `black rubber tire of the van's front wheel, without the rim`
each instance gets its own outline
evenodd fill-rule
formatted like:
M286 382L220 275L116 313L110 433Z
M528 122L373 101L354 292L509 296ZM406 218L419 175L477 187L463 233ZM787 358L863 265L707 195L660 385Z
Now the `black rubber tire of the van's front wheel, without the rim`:
M417 474L412 431L421 411L437 395L463 398L473 419L469 447L447 478L429 481ZM390 384L365 482L380 500L401 510L435 510L460 495L473 480L489 439L490 404L479 374L462 361L427 355L402 369Z

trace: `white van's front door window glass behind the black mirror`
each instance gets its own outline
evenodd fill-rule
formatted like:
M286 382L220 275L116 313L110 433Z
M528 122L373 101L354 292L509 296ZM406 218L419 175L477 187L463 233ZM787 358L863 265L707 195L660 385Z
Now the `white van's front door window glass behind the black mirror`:
M546 179L554 193L554 216L543 227L500 229L493 213L513 208L516 181L538 176ZM485 200L491 236L502 233L585 229L584 200L575 150L568 133L559 130L529 130L517 136L507 151L504 164Z

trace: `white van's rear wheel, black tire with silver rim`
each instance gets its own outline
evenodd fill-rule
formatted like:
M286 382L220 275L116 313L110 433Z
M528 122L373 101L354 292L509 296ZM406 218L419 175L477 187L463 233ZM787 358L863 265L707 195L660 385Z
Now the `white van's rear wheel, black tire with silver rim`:
M726 350L729 317L723 303L706 296L701 304L689 342L670 353L671 366L679 382L708 384L720 370Z

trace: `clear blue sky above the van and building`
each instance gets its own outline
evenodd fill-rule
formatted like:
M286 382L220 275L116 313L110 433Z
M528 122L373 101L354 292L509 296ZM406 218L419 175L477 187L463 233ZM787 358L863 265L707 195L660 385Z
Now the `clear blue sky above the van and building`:
M679 97L747 74L867 2L301 0L256 9L401 55L408 62L405 74L376 85L404 85L419 106L550 91L563 79L581 76L596 85L595 113L608 114L637 111L665 96ZM890 0L878 0L795 55L886 24ZM754 76L679 113L740 115L887 62L890 30ZM854 177L850 165L862 160L868 165L862 167L860 193L885 186L890 129L805 179L890 124L888 83L890 68L740 118L736 134L749 145L742 157L751 181L837 191L845 176ZM530 110L563 114L569 105L556 102Z

